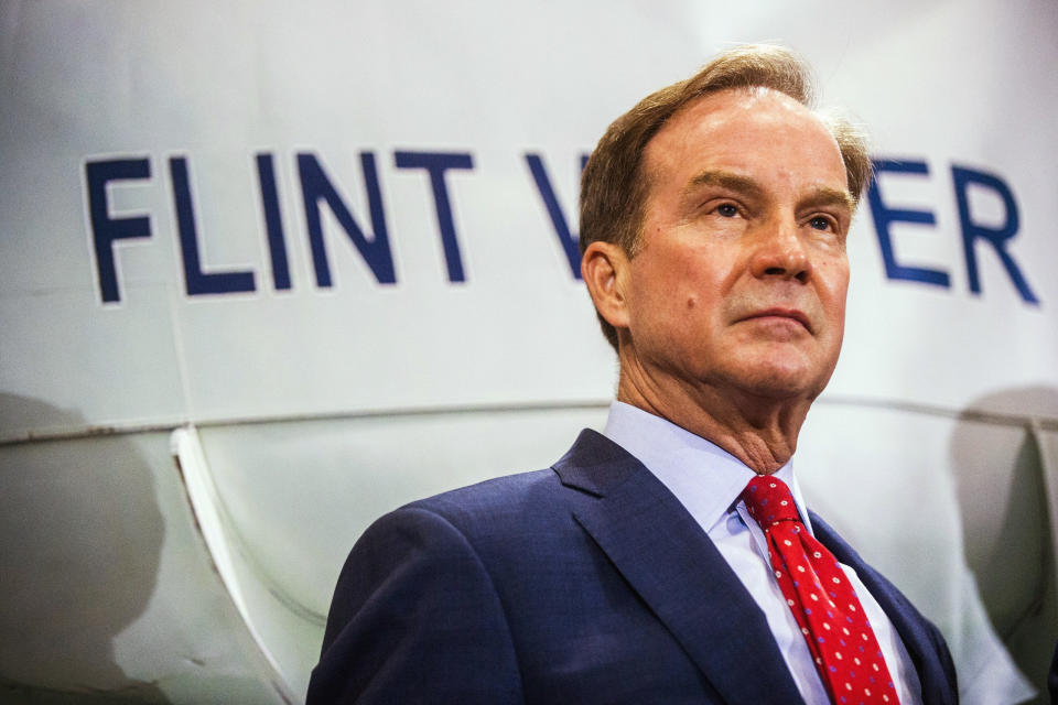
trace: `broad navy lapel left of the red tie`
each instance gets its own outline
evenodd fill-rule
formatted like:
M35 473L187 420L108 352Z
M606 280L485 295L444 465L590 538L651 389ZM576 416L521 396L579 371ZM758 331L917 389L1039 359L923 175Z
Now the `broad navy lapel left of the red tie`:
M574 518L724 699L802 702L764 614L660 480L592 431L554 470L596 498Z

